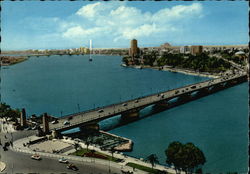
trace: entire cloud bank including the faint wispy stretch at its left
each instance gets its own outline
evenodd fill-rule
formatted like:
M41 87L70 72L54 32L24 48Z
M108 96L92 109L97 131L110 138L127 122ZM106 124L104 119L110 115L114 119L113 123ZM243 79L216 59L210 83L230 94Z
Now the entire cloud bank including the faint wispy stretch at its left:
M169 41L190 24L190 19L202 16L202 5L177 5L156 12L129 6L126 2L94 2L65 17L27 17L20 26L30 33L39 34L45 43L56 40L75 46L93 39L99 47L127 45L136 38L144 43ZM38 22L39 21L39 22Z

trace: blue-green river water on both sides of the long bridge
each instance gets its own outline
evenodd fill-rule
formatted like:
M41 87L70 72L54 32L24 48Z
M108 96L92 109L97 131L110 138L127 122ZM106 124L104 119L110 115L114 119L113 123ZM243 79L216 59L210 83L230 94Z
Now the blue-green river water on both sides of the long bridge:
M93 56L93 62L87 56L31 57L1 69L1 101L26 108L28 115L60 117L207 79L120 64L119 56ZM247 91L244 83L110 132L134 141L128 155L145 158L155 153L164 164L170 142L193 142L207 158L205 172L246 173ZM141 115L150 111L148 107ZM117 122L119 117L102 121L101 127Z

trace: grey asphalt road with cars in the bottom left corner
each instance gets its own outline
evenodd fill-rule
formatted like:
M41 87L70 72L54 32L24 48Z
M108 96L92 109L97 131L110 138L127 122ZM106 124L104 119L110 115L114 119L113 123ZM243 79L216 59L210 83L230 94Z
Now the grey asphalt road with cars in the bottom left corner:
M34 132L33 132L34 133ZM16 135L15 135L16 134ZM21 137L27 136L27 134L32 134L29 132L17 132L7 135L7 139L5 138L5 134L1 133L0 138L2 144L4 142L10 141L13 139L18 139ZM48 173L83 173L83 174L106 174L109 173L109 166L96 164L93 162L79 162L79 161L69 161L75 164L78 167L78 171L72 171L66 168L66 164L62 164L58 162L58 159L55 158L45 158L42 157L42 160L36 161L30 158L29 154L14 152L12 150L4 151L2 146L0 146L0 160L6 163L6 169L2 173L11 174L11 173L39 173L39 174L48 174ZM121 173L120 169L110 167L111 173Z

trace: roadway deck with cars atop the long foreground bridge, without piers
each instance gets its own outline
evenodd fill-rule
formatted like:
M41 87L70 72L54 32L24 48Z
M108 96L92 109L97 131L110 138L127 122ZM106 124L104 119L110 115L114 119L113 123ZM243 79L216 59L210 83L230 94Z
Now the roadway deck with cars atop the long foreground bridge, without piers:
M169 90L169 91L160 92L157 94L152 94L152 95L141 97L141 98L136 98L136 99L125 101L125 102L118 103L118 104L109 105L109 106L105 106L105 107L97 108L97 109L92 109L89 111L80 112L80 113L76 113L72 115L67 115L67 116L59 118L57 124L49 123L49 128L50 130L67 130L70 128L80 126L84 123L100 121L106 118L110 118L114 115L125 113L129 110L144 108L146 106L149 106L149 105L152 105L152 104L164 101L164 100L170 100L175 97L179 97L185 94L190 94L192 92L199 91L203 88L216 86L218 84L228 82L234 79L238 79L243 76L246 76L246 74L236 74L236 75L230 75L230 76L221 77L217 79L207 80L204 82L184 86L184 87ZM102 110L102 112L100 112L100 110ZM69 120L69 117L72 117L72 118ZM64 125L65 121L69 121L70 124Z

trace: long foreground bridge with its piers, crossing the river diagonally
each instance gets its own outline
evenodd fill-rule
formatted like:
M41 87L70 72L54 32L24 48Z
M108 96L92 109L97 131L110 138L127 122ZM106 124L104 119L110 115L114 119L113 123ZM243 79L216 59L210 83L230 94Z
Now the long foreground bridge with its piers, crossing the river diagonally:
M139 111L147 106L154 105L167 108L171 106L171 102L169 101L174 98L176 98L174 105L183 104L245 81L247 81L246 73L231 74L85 112L67 115L58 118L57 123L54 124L51 122L49 123L47 119L44 118L43 130L47 133L53 130L60 133L76 127L99 129L99 121L116 115L121 115L122 119L125 121L133 120L138 118Z

